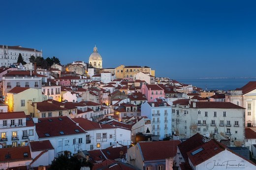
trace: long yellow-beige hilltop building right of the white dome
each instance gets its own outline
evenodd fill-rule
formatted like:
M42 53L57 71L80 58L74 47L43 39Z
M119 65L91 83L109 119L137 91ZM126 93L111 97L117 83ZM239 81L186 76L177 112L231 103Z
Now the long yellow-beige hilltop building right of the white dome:
M121 65L121 66L118 66L116 69L115 69L115 73L116 73L116 78L117 79L130 79L130 80L133 80L133 77L134 77L134 74L137 74L137 73L140 73L140 72L143 72L143 73L153 73L155 76L155 71L152 72L151 68L150 67L141 67L141 66L125 66L125 65Z

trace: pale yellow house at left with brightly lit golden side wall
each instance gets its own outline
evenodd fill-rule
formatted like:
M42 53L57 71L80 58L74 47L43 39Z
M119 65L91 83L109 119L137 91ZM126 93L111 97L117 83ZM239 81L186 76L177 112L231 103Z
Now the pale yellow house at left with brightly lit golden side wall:
M29 87L14 87L7 93L7 104L9 112L24 111L26 115L30 115L28 111L28 101L41 102L44 95L41 89L33 89Z

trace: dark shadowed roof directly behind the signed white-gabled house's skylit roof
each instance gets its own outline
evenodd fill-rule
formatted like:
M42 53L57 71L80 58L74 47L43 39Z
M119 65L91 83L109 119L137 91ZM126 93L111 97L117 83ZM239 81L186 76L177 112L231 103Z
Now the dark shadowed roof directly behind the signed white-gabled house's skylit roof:
M185 161L188 161L188 155L187 152L204 144L203 136L199 133L196 133L192 137L190 137L188 140L184 141L183 143L179 144L178 147L181 151L181 154Z

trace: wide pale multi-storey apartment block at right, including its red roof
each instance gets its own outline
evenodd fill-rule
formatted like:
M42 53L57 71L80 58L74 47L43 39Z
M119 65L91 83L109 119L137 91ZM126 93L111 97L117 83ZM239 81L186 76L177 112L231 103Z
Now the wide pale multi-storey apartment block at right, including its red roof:
M173 101L172 128L174 134L188 138L196 133L210 137L221 134L231 142L244 142L243 107L230 102L191 102L190 99Z

